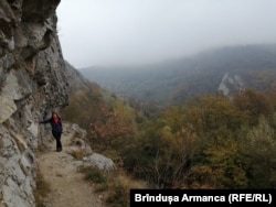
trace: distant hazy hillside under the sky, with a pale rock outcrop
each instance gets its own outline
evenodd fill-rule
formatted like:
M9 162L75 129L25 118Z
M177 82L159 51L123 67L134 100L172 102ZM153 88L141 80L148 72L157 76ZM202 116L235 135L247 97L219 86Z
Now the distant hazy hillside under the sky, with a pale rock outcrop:
M123 97L158 105L181 103L194 95L233 95L276 87L276 44L245 45L142 66L87 67L79 72Z

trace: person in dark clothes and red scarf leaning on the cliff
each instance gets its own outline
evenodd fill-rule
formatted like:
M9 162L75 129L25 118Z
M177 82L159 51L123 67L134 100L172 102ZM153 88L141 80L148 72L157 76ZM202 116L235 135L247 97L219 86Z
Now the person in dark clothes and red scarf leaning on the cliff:
M57 112L52 112L52 117L50 119L40 121L39 123L51 123L52 134L56 141L56 152L61 152L62 151L61 138L62 138L63 128L62 128L62 119L57 115Z

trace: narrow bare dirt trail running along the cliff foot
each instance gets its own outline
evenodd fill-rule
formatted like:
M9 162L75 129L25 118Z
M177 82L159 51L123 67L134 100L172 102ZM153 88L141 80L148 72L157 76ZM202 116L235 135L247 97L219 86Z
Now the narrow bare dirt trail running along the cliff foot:
M95 193L93 186L84 181L84 174L77 172L77 161L68 153L73 135L70 123L64 123L63 151L55 151L53 140L47 144L49 150L38 155L40 173L51 188L45 206L107 207L103 196Z

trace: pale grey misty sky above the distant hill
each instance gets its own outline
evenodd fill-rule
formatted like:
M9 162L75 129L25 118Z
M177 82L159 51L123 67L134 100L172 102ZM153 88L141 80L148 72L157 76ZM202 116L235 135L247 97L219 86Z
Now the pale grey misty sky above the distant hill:
M64 58L76 68L276 43L276 0L61 0L57 18Z

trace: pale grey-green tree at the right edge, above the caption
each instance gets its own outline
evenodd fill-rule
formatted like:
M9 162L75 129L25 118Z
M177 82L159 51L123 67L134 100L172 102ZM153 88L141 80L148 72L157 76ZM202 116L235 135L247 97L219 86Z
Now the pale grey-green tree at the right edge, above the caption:
M268 121L262 116L258 124L248 131L241 144L242 153L247 157L250 187L276 187L276 137Z

